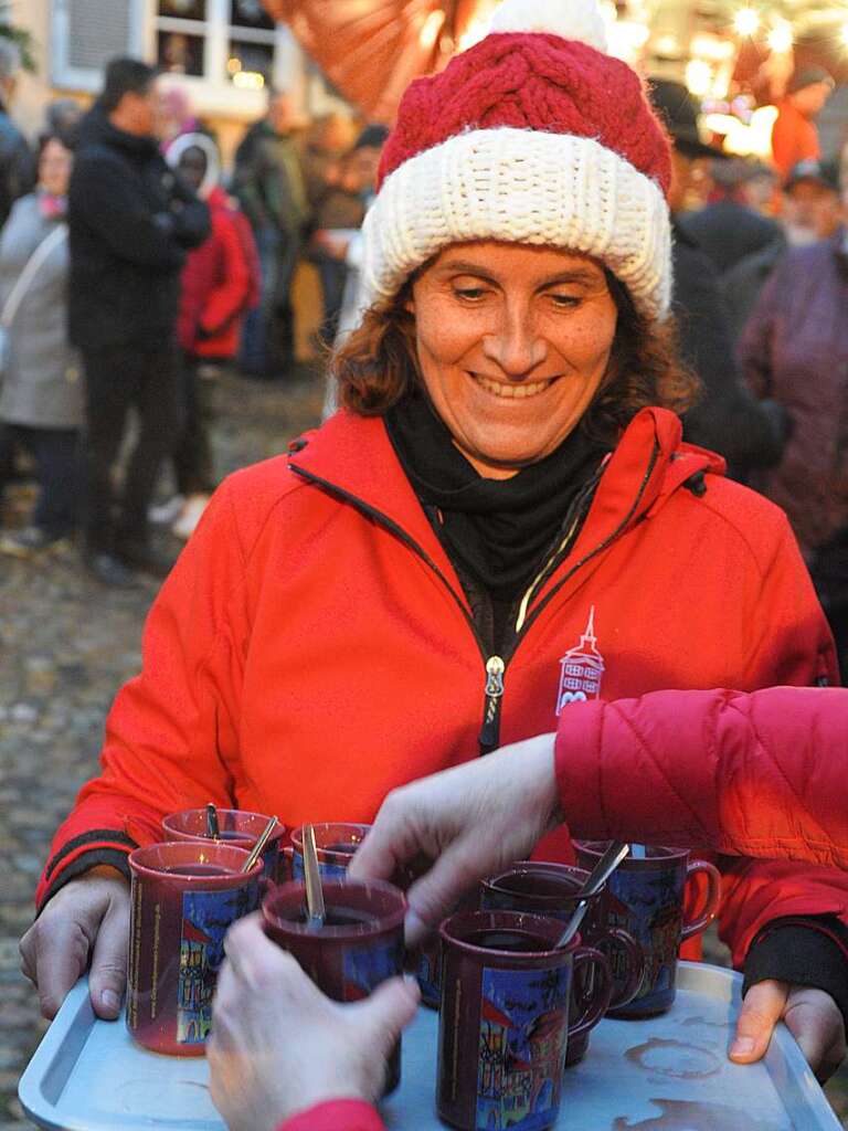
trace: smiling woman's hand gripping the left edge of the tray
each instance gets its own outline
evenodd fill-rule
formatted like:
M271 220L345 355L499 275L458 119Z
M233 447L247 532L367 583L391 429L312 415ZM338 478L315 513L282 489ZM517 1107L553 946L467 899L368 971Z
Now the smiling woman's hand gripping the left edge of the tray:
M93 867L47 903L20 940L21 969L38 990L41 1011L52 1020L85 974L97 1017L118 1017L127 985L130 886L118 869Z

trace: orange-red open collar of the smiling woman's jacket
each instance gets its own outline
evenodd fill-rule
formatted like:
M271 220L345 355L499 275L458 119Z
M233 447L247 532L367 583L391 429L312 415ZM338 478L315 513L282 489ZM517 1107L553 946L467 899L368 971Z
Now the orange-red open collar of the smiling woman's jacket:
M677 416L643 408L624 431L569 555L578 561L656 513L684 483L704 472L724 474L720 456L681 440ZM355 500L416 542L461 592L453 569L395 455L379 417L336 413L289 446L295 473Z

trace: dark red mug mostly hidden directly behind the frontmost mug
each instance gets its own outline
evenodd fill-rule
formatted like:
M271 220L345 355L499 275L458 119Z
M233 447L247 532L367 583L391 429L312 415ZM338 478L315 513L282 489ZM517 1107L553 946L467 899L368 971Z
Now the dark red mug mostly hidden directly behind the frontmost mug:
M580 896L578 892L589 879L589 873L569 864L542 861L520 861L512 867L490 877L481 884L483 910L528 912L568 923ZM606 955L613 976L613 996L609 1009L626 1005L642 984L644 952L629 931L609 926L604 915L605 889L591 897L589 910L580 926L580 938L588 947ZM583 985L580 974L572 984L571 1017L579 1017L580 1001L591 990ZM589 1047L586 1024L569 1025L569 1048L565 1067L577 1064Z

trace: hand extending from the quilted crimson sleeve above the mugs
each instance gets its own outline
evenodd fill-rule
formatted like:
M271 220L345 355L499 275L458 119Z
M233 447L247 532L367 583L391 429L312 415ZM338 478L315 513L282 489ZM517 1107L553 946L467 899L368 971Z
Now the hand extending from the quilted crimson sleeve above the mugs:
M432 863L407 897L406 939L419 942L478 880L528 855L560 818L554 737L542 734L392 791L349 869L390 879Z

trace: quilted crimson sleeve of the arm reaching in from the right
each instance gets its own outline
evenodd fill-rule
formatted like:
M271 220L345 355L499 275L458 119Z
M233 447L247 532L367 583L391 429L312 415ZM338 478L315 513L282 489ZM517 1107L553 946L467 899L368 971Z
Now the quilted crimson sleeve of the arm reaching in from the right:
M656 691L573 703L556 777L573 836L848 867L848 690Z

